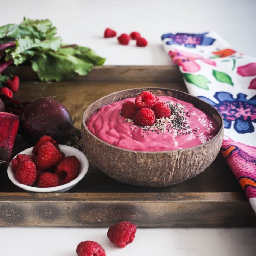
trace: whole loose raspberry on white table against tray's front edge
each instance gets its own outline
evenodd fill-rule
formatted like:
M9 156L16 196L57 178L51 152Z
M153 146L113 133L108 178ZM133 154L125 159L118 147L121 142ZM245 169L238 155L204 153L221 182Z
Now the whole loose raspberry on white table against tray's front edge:
M123 221L113 225L108 230L109 240L120 247L126 247L127 244L132 243L135 237L137 228L134 224Z

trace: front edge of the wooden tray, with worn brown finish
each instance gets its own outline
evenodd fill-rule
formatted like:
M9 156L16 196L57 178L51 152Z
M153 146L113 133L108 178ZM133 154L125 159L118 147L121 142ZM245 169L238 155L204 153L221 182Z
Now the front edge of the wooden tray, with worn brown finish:
M0 226L256 226L243 193L0 193Z

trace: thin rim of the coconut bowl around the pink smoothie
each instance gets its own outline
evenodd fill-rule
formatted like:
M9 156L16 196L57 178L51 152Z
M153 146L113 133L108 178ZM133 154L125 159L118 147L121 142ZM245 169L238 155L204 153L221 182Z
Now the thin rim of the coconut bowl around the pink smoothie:
M183 94L186 94L186 95L189 95L189 96L192 96L192 97L197 98L199 101L203 101L203 100L201 100L200 98L198 98L197 96L191 95L191 94L189 94L189 93L187 93L187 92L184 92L184 91L175 90L175 89L171 89L171 88L162 88L162 87L138 87L138 88L132 88L132 89L127 89L127 90L121 90L121 91L112 92L112 93L110 93L110 94L108 94L108 95L106 95L106 96L104 96L104 97L99 98L98 100L96 100L96 101L93 102L92 104L95 104L96 102L101 101L103 98L109 97L109 96L111 96L111 95L115 95L115 94L117 94L117 93L119 93L119 92L125 92L125 91L130 91L130 90L135 90L135 89L141 89L141 90L145 90L145 89L146 89L146 90L147 90L147 89L172 90L172 91L182 92ZM125 99L125 98L124 98L124 99ZM115 101L113 101L113 102L115 102ZM190 148L172 149L172 150L166 150L166 151L136 151L136 150L130 150L130 149L120 148L120 147L111 145L111 144L109 144L108 142L105 142L105 141L99 139L97 136L95 136L93 133L91 133L90 130L88 129L87 125L85 124L85 121L86 121L86 120L84 120L84 115L85 115L87 109L88 109L92 104L90 104L90 105L88 106L88 108L84 111L83 117L82 117L82 124L83 124L84 129L85 129L92 137L94 137L95 139L99 140L100 142L104 143L104 144L107 145L107 146L111 146L111 147L120 149L120 150L122 150L122 151L124 151L124 152L133 152L133 153L137 153L137 154L138 154L138 153L144 153L144 154L145 154L145 153L148 153L148 154L159 154L159 153L180 152L180 151L185 152L185 151L190 151L190 150L197 149L197 148L200 148L200 147L206 147L208 144L210 144L210 143L212 143L213 141L217 140L218 137L220 136L220 134L223 132L223 129L224 129L224 128L223 128L223 127L224 127L224 122L223 122L223 118L222 118L222 116L220 115L219 111L218 111L216 108L214 108L212 105L210 105L209 103L207 103L206 101L203 101L203 102L204 102L206 105L208 105L210 108L213 108L213 109L218 113L218 115L219 115L219 117L220 117L220 120L221 120L220 129L219 129L218 133L217 133L211 140L209 140L209 141L207 141L207 142L205 142L205 143L202 143L202 144L200 144L200 145L197 145L197 146L194 146L194 147L190 147ZM103 106L101 106L101 107L103 107ZM89 118L89 117L88 117L88 118Z

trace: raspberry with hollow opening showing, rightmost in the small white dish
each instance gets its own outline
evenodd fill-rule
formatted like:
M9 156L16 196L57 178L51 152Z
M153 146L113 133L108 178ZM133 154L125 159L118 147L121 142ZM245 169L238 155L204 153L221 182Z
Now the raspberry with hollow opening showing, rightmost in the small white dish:
M76 156L68 156L62 159L55 167L55 173L58 175L60 183L66 184L75 179L80 169L80 162Z

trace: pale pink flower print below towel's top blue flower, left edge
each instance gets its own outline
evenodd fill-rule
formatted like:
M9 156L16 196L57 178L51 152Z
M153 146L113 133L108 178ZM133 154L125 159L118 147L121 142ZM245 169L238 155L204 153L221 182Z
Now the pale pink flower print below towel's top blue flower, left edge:
M212 60L205 59L204 57L185 51L169 51L169 56L172 61L181 66L183 71L197 72L201 67L195 62L196 59L200 59L204 63L216 66L216 63Z

